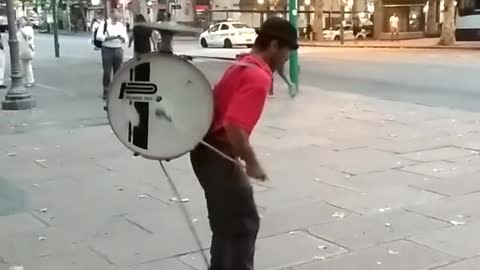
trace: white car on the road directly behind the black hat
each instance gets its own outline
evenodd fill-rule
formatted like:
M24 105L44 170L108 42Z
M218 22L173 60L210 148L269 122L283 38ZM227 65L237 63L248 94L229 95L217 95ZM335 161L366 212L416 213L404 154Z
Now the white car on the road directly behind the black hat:
M232 48L247 46L251 48L257 38L255 29L241 22L221 22L214 24L200 35L200 45Z

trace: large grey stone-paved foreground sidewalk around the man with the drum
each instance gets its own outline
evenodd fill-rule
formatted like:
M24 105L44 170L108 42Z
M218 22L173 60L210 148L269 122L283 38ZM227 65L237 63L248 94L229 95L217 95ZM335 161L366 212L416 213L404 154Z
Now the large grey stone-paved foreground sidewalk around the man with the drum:
M60 64L57 76L72 76ZM56 87L40 70L34 91L48 106L0 112L0 269L205 269L158 163L121 145L80 70L81 84ZM254 184L256 269L478 268L480 114L277 93L252 137L271 179ZM208 252L188 157L167 169Z

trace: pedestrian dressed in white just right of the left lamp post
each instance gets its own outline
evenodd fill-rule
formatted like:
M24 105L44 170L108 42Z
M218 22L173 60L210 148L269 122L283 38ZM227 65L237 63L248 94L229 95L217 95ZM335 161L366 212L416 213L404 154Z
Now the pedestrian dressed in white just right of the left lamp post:
M25 87L30 88L35 85L32 66L35 45L33 27L26 17L21 17L18 20L17 39L22 70L26 80Z

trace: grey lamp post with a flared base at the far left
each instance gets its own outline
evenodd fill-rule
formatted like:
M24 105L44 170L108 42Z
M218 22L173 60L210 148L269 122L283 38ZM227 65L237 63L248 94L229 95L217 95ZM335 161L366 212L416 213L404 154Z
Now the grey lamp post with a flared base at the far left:
M30 92L23 86L20 73L20 50L17 40L17 26L13 0L6 1L8 18L8 45L10 47L10 70L12 85L2 101L3 110L26 110L35 107L36 102Z

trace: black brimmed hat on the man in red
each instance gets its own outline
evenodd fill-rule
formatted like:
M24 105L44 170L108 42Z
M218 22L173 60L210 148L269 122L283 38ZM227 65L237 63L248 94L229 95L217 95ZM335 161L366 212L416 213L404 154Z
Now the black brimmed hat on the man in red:
M288 45L290 49L298 49L297 29L287 20L279 17L267 19L257 31L258 35L276 38Z

